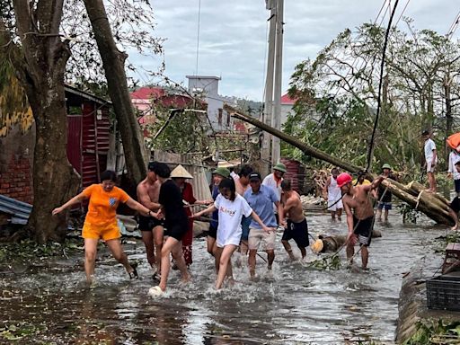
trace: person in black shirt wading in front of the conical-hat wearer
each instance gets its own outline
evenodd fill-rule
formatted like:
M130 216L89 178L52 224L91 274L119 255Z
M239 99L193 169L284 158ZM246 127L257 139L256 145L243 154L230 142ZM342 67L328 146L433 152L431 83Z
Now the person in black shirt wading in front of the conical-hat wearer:
M169 260L170 254L173 254L174 262L181 270L182 281L190 280L190 275L185 264L182 254L182 237L187 233L188 217L183 208L181 190L174 181L170 180L171 170L164 163L154 162L152 170L156 174L158 181L161 183L158 203L161 205L160 210L155 214L157 218L164 217L164 227L166 228L166 242L162 248L162 277L160 285L155 287L156 294L166 290L168 275L171 268ZM161 289L161 291L160 291Z

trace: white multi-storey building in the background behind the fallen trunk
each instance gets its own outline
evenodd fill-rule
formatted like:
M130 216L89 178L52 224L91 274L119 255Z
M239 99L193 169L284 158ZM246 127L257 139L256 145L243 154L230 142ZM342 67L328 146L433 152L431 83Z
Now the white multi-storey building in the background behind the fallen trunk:
M208 119L212 128L217 131L234 129L234 119L224 111L224 102L235 106L234 97L225 97L218 94L220 77L213 75L186 75L189 79L189 91L192 94L203 95L208 103Z

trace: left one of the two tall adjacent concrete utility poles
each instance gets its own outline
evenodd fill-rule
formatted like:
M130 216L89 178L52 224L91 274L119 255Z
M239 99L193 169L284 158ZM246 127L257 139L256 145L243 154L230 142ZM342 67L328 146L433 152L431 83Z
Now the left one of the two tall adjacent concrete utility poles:
M267 78L265 80L265 106L261 122L271 126L271 113L273 107L273 74L275 68L275 33L276 33L276 1L265 0L267 10L270 10L269 49L267 57ZM261 175L270 173L270 133L263 132L261 147Z

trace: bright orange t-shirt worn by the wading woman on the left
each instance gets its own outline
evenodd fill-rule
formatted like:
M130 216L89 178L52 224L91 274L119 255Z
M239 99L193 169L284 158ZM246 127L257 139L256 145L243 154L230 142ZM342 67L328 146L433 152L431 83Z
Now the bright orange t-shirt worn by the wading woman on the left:
M126 191L113 187L108 192L103 190L101 184L92 184L84 189L83 194L90 199L84 223L98 226L116 222L119 202L125 203L129 199Z

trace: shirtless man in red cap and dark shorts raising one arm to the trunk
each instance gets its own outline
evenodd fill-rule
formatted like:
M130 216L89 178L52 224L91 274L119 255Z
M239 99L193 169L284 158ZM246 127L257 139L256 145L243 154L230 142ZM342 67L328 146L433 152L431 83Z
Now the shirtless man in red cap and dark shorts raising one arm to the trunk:
M347 214L347 226L349 234L347 237L347 258L352 260L355 254L355 243L358 241L361 246L362 268L367 269L372 228L374 227L374 208L370 198L371 190L378 188L385 176L377 177L372 184L353 186L353 179L349 173L341 173L337 177L337 185L343 194L343 208ZM351 212L353 208L354 212Z

